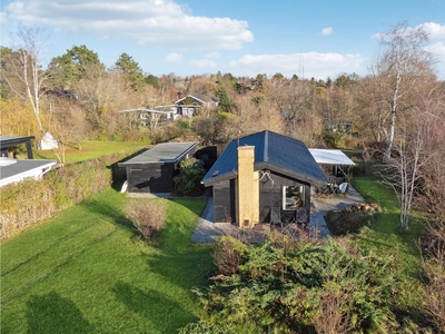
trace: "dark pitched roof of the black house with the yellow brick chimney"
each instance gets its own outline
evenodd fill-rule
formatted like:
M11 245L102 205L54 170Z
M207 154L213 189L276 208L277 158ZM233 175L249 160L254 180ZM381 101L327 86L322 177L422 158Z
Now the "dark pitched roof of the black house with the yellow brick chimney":
M231 141L202 178L205 186L236 177L238 169L238 145L255 146L255 170L270 169L319 186L328 183L325 174L305 144L300 140L266 130Z

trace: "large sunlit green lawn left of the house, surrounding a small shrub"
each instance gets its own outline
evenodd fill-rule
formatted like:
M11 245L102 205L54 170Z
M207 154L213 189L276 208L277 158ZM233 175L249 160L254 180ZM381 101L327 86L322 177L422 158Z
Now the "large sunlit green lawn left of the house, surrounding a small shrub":
M190 243L204 199L168 202L144 242L109 189L1 245L1 333L177 333L198 318L191 288L211 247Z

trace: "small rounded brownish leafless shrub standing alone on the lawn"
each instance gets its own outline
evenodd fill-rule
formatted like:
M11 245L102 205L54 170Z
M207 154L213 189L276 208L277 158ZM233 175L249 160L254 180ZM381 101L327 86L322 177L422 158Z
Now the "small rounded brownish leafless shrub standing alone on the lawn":
M127 216L146 239L156 235L166 224L166 206L164 202L138 199L129 203Z

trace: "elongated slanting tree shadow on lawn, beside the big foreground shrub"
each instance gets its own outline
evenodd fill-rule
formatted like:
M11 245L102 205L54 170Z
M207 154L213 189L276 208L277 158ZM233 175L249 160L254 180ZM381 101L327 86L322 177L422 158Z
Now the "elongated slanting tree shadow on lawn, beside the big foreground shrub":
M111 291L131 312L148 318L157 332L176 333L181 326L196 321L196 316L178 302L154 289L146 292L119 281ZM175 322L171 321L172 314Z

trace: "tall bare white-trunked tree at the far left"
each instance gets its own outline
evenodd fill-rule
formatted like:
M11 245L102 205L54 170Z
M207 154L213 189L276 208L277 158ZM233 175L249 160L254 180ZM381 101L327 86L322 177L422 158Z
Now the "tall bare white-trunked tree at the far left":
M40 131L43 130L40 99L46 92L43 82L49 73L42 70L44 40L37 27L21 27L11 37L13 52L7 56L3 80L19 98L29 101Z

